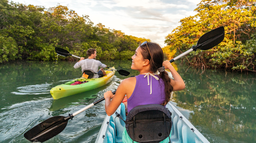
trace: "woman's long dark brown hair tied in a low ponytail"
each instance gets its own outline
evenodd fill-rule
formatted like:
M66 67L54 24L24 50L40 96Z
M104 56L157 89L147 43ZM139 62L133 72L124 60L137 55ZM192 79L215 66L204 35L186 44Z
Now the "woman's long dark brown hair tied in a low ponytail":
M150 61L149 71L153 73L157 72L158 68L162 67L163 59L164 59L163 51L161 47L157 43L147 42L142 46L140 45L140 48L142 50L141 55L143 56L143 58L148 59ZM150 51L150 53L148 50ZM150 54L152 57L150 56ZM171 79L168 76L168 73L166 71L160 72L159 76L164 81L164 87L165 87L165 101L161 105L166 105L170 101L170 96L171 96L173 87L170 84Z

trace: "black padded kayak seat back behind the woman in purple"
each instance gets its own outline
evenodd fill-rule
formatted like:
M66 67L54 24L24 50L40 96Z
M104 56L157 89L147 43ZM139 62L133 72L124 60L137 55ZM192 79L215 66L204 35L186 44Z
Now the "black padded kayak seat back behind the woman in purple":
M125 128L133 141L159 143L169 138L172 128L171 112L160 104L134 107L125 120Z

